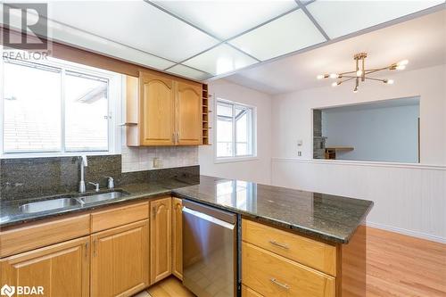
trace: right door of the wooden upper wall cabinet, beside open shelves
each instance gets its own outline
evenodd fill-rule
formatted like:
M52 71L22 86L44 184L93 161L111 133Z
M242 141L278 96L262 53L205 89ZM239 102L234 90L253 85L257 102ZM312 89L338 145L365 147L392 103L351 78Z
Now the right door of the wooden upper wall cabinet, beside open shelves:
M177 86L178 144L202 144L202 87L185 82Z

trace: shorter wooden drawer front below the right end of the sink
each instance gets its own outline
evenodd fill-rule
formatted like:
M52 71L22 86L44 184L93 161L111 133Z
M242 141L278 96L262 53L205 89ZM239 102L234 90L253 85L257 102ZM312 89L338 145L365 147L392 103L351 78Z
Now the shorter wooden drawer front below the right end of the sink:
M149 202L99 210L91 214L91 232L119 227L149 217Z

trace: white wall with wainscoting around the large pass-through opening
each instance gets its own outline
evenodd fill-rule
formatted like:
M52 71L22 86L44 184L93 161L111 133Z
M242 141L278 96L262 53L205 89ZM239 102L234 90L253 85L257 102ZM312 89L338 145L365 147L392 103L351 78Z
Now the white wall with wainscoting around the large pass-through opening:
M446 242L446 67L392 75L395 84L318 87L273 97L272 184L375 202L371 225ZM312 161L313 108L420 96L421 162ZM297 156L297 140L303 140Z

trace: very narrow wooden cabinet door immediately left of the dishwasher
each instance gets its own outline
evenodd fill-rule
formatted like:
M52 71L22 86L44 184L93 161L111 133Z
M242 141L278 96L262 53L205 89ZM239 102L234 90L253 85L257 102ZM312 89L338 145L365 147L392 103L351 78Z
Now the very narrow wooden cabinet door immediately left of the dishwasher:
M183 202L172 198L172 273L183 279Z

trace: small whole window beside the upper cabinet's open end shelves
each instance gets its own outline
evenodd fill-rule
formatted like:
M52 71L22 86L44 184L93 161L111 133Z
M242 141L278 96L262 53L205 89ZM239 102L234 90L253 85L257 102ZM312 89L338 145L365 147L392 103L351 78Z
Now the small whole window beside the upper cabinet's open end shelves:
M217 161L237 161L255 157L255 110L242 103L219 99L216 103Z

